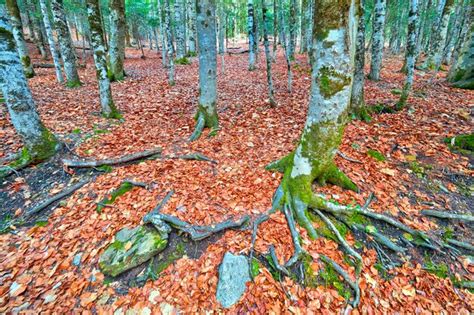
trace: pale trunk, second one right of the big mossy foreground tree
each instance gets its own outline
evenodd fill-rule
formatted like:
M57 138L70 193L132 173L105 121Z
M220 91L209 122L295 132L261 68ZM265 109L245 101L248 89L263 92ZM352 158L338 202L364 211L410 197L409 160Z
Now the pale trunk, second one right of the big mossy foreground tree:
M380 80L382 69L386 0L375 0L374 22L372 30L372 59L369 79Z

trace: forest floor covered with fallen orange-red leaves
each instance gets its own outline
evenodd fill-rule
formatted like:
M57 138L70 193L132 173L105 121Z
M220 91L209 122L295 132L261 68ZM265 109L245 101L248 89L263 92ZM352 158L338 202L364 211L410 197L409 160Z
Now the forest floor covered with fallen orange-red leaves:
M197 107L197 59L176 66L176 85L170 87L159 55L147 51L146 56L141 59L138 51L127 50L128 76L113 83L123 122L99 116L91 60L80 70L84 85L77 89L58 84L54 69L35 69L37 76L30 86L40 115L67 148L52 161L0 182L0 220L8 225L68 183L82 178L90 182L53 208L21 222L26 226L10 226L9 233L0 235L0 313L224 311L215 296L218 266L226 251L248 252L248 230L229 230L213 238L199 249L201 255L188 253L143 286L124 286L123 281L104 278L98 269L99 256L118 230L138 225L171 190L174 195L162 211L192 224L210 225L266 212L281 175L264 167L290 152L298 141L309 99L309 65L305 56L297 57L290 94L286 64L283 55L278 55L273 64L278 107L271 108L263 51L253 72L247 71L246 54L226 54L225 74L219 71L218 81L221 129L215 137L207 137L206 131L199 141L188 143ZM398 99L404 80L399 72L401 62L400 57L387 56L381 81L366 81L369 105L392 104ZM451 152L443 141L472 132L474 92L450 88L445 76L442 71L429 81L431 74L417 71L410 108L374 114L370 123L349 123L340 150L362 163L340 156L336 163L359 186L360 193L333 186L315 190L344 204L364 204L373 192L374 210L396 216L413 228L454 232L458 239L472 242L472 223L452 224L420 214L423 209L474 212L473 157ZM0 127L2 159L21 148L5 106L0 107ZM156 147L163 149L164 156L200 152L217 163L162 158L100 172L63 168L60 161L74 154L98 159ZM147 183L148 189L135 187L111 206L96 211L97 203L125 179ZM314 257L325 254L354 272L336 242L322 237L310 241L304 230L300 232L305 249ZM351 235L348 240L357 243ZM257 252L267 252L270 244L275 245L280 260L291 256L291 237L282 213L273 214L258 231ZM361 304L354 313L474 312L474 295L453 285L456 278L474 280L472 256L445 260L433 252L411 250L397 257L398 267L385 272L370 240L358 248L364 266ZM317 263L311 267L315 273L322 269ZM288 278L278 281L262 267L240 302L228 311L338 312L346 306L340 292L337 283L303 288Z

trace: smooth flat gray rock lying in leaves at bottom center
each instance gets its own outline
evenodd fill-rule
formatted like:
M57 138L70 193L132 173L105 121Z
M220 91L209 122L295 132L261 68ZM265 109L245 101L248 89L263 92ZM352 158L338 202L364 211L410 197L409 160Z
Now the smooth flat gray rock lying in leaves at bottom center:
M229 308L242 297L250 281L250 270L247 258L227 252L219 267L217 283L217 300L223 307Z

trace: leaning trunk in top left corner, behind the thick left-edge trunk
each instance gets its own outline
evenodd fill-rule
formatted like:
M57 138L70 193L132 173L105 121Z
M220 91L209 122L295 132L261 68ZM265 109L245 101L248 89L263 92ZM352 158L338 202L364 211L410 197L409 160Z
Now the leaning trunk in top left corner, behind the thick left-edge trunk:
M12 24L13 36L15 38L18 54L20 55L21 64L25 71L27 78L32 78L35 75L33 64L28 55L28 48L26 46L25 38L23 36L23 25L21 24L20 9L18 8L17 0L6 0L7 11L10 14Z

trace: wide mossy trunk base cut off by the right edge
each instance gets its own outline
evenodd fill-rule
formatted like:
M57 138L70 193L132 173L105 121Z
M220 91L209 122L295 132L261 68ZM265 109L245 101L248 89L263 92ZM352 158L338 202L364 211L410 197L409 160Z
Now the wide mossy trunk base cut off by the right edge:
M453 70L450 71L448 81L453 86L462 89L474 89L474 23L471 23L468 40L464 43L461 54Z

